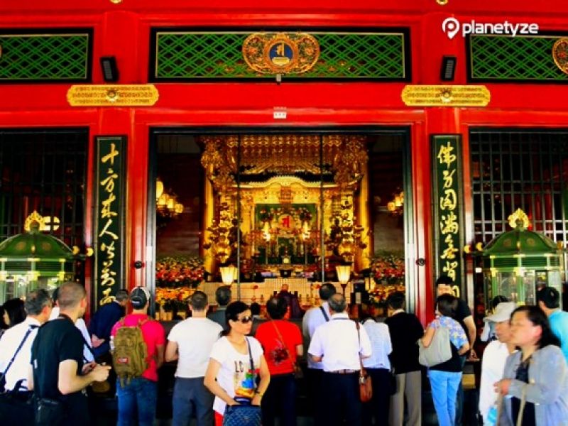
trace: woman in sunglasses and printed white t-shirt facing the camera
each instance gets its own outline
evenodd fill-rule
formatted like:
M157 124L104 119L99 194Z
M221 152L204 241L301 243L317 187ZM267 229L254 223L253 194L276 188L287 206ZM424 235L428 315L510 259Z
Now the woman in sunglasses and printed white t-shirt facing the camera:
M240 301L232 302L226 307L225 315L227 327L213 345L204 378L205 386L215 395L215 426L223 424L226 405L261 405L270 382L261 344L254 337L246 336L252 327L249 306ZM257 387L258 375L261 381Z

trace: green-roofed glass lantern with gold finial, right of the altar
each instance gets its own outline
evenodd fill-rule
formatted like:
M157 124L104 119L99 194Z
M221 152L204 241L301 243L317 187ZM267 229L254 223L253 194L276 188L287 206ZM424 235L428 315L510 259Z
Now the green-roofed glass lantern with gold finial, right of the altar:
M509 217L514 229L477 253L483 258L486 306L497 295L518 305L535 305L536 292L544 286L562 294L564 250L546 236L528 231L529 223L525 212L518 209Z

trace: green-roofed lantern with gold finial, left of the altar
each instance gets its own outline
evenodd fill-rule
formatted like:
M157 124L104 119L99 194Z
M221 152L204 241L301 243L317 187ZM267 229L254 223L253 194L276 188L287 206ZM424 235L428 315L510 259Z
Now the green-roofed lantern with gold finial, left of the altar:
M42 219L33 212L26 219L27 232L0 244L0 303L38 288L53 290L73 279L77 256L60 239L40 232Z

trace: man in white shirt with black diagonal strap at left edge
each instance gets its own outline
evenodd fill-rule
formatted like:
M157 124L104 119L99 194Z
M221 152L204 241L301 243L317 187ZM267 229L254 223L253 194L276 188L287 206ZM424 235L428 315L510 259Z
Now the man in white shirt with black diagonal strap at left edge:
M11 359L13 359L6 372L6 391L28 393L31 345L35 335L38 334L38 327L49 318L51 312L49 293L43 289L29 293L26 297L25 307L28 313L26 320L7 329L0 339L1 373L6 371ZM22 412L20 405L4 407L4 404L2 404L0 406L0 418L6 421L7 425L33 424L33 409L30 408L30 411L31 413Z

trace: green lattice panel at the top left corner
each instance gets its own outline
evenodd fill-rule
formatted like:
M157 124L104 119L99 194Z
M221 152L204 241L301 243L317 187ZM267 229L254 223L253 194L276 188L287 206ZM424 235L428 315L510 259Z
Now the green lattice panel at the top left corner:
M89 34L0 34L1 80L88 80Z

